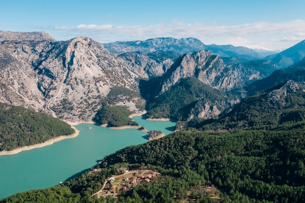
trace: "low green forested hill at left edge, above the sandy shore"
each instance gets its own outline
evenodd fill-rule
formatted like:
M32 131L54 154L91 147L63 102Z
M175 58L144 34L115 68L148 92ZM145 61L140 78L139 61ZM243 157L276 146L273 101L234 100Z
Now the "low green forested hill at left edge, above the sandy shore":
M69 124L45 113L0 103L0 151L43 143L74 132Z

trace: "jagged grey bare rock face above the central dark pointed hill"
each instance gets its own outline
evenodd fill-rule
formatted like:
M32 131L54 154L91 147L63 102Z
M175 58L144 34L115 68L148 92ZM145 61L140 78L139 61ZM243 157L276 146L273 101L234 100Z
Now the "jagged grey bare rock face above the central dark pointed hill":
M203 83L221 90L241 87L246 81L261 78L260 72L242 64L225 64L223 59L211 51L200 51L182 55L164 76L161 93L180 81L194 76Z

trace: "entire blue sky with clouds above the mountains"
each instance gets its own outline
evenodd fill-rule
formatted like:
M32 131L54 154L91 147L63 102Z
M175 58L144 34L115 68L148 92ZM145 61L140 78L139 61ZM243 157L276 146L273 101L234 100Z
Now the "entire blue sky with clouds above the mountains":
M0 0L0 30L95 41L195 37L282 51L305 40L305 0Z

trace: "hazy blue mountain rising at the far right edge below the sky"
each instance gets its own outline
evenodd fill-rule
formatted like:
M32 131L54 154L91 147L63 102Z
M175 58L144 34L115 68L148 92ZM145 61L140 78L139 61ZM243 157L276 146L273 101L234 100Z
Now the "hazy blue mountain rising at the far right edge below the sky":
M265 59L271 60L274 64L277 64L278 68L282 69L300 62L304 57L305 40L276 55L268 55Z

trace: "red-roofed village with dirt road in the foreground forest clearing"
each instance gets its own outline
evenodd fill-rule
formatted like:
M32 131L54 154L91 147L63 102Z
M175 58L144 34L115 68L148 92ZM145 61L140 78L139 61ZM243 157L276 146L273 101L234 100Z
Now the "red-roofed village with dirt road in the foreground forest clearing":
M94 169L92 173L98 172ZM125 173L107 178L102 188L92 196L97 198L113 195L114 197L122 194L123 191L129 191L140 183L150 182L154 177L161 176L160 173L153 170L126 170Z

